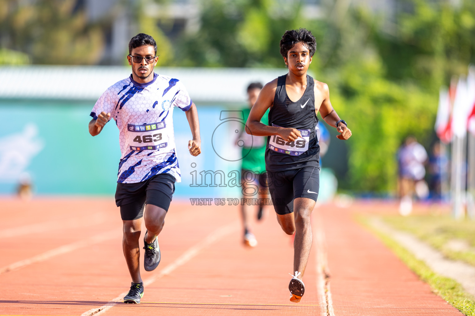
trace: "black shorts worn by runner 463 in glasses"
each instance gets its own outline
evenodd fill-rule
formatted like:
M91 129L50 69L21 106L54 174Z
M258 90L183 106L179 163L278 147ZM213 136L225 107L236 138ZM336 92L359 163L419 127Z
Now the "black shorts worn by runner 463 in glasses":
M171 174L160 173L138 183L117 183L115 205L120 207L122 220L143 216L145 204L152 204L168 211L175 192L176 179Z

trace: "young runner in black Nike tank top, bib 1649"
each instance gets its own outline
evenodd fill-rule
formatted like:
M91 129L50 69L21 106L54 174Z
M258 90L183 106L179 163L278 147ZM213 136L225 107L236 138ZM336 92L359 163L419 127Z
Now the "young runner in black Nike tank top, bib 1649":
M328 86L307 75L315 48L315 37L306 29L285 32L280 53L289 72L264 86L246 123L248 134L268 136L266 170L277 221L285 233L295 233L295 275L289 283L290 300L295 303L305 291L302 277L312 245L310 215L319 189L316 113L320 111L325 122L337 128L339 139L352 135L333 110ZM268 108L267 126L260 120Z

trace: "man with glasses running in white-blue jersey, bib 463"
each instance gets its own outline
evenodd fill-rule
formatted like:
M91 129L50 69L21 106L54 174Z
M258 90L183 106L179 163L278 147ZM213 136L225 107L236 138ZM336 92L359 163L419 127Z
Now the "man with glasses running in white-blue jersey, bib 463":
M156 54L157 44L152 36L140 33L130 40L127 58L132 74L103 93L89 122L93 136L110 119L119 128L122 156L115 203L123 220L123 253L132 277L124 303L140 303L143 296L139 269L142 216L147 228L143 238L144 268L152 271L160 263L157 236L163 228L175 182L181 180L173 134L175 106L185 111L190 124L190 154L201 153L196 106L180 80L153 72Z

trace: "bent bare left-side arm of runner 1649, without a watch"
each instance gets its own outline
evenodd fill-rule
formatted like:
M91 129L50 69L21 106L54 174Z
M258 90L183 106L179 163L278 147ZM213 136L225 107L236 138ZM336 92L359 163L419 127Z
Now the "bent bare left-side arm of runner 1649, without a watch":
M261 118L267 109L272 107L276 95L277 79L267 83L262 88L257 101L251 108L246 122L246 133L255 136L279 135L285 141L295 141L300 132L295 128L268 126L261 123Z

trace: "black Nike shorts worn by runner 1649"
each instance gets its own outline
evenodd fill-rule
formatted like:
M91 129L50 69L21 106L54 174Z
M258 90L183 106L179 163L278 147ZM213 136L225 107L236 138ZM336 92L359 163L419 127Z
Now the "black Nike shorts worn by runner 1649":
M305 166L285 171L267 171L269 192L279 215L294 211L295 198L318 198L320 167Z

